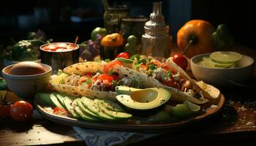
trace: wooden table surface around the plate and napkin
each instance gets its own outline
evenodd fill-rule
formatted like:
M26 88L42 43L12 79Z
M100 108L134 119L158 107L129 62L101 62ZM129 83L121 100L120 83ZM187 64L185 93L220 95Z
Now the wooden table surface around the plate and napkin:
M237 46L233 50L256 60L256 50L244 46ZM173 53L176 51L173 50ZM253 76L249 82L251 85L256 83L255 70ZM230 142L251 145L256 139L255 89L220 89L226 98L225 106L214 117L131 145L224 145ZM18 123L10 118L0 118L0 146L85 145L75 135L72 128L45 119Z

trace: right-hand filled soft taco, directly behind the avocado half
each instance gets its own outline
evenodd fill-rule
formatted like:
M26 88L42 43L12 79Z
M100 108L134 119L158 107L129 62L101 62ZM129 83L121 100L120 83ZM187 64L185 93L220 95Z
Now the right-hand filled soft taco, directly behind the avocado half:
M142 79L146 78L144 81L148 86L169 89L172 93L172 100L184 101L187 99L195 104L205 104L209 99L217 99L220 95L217 88L208 85L207 87L214 91L210 95L206 89L197 85L195 80L192 80L184 70L173 63L171 58L164 63L143 55L136 55L131 59L132 63L129 62L126 65L129 69L122 66L116 66L116 68L122 69L122 74L129 74L132 72L131 70L139 72ZM120 59L117 58L117 60Z

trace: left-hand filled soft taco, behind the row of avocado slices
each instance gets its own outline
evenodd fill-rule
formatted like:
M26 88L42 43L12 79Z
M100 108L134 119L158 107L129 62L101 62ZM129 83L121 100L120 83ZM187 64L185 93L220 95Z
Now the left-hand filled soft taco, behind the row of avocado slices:
M67 93L72 96L87 96L91 99L116 100L117 85L128 85L134 88L147 88L148 85L142 81L147 80L146 76L133 70L128 74L122 74L122 69L115 69L114 66L122 66L119 61L94 62L73 64L67 66L63 71L53 75L50 79L50 90L60 93Z

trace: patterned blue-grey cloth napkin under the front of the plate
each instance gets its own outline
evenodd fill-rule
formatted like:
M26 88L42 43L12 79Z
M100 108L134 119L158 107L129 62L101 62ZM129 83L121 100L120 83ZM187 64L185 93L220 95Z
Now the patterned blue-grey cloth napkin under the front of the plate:
M159 133L102 131L77 126L73 126L73 128L78 133L79 138L83 139L88 146L129 145L133 142L139 142L143 139L160 135Z

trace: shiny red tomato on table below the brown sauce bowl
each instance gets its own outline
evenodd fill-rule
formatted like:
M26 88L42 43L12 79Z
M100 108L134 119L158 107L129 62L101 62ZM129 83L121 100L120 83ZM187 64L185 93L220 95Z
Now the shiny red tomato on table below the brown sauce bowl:
M31 119L33 114L33 107L27 101L16 101L12 104L10 115L13 120L26 121Z

